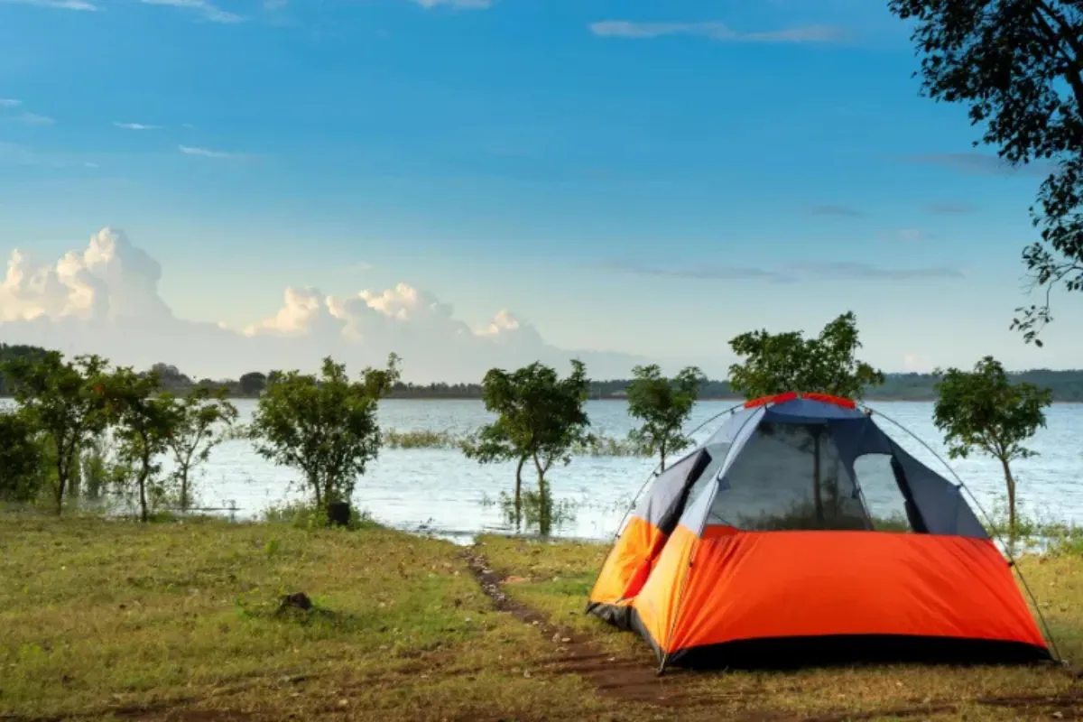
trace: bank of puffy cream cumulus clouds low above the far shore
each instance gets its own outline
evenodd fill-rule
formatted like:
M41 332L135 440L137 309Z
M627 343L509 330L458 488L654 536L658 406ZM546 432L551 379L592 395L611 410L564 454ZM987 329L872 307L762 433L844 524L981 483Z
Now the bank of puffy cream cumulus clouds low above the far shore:
M592 373L619 377L644 360L554 347L508 310L472 328L449 303L406 283L350 296L287 288L274 313L231 329L175 317L158 293L160 279L160 265L115 228L52 263L16 249L0 284L0 333L9 343L100 353L136 368L168 362L209 378L313 370L325 355L358 370L391 352L403 357L405 377L421 382L477 381L494 366L534 360L566 369L572 358Z

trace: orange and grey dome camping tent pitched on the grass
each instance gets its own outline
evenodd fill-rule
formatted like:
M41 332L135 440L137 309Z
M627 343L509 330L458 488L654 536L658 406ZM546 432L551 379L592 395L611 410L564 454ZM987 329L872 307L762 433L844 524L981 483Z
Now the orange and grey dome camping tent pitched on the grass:
M637 630L660 671L1052 658L962 485L823 394L731 409L658 474L587 609Z

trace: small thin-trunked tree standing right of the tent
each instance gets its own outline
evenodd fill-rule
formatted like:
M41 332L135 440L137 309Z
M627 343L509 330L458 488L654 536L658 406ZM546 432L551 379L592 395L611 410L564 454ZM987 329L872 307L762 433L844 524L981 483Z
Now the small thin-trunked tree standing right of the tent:
M948 455L965 459L980 450L1001 462L1008 493L1008 535L1016 534L1016 480L1012 461L1035 456L1023 443L1045 425L1046 406L1053 392L1030 383L1012 383L1004 367L992 356L979 360L973 371L937 370L934 422L944 434Z

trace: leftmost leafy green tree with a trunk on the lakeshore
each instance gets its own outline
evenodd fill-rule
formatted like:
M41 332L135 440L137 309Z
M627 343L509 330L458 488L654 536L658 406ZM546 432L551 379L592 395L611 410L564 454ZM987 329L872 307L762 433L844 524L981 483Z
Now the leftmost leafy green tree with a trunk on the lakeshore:
M65 362L51 351L39 357L9 362L5 372L15 388L15 401L27 419L40 429L51 447L56 469L51 480L53 510L61 514L78 471L80 448L109 423L104 381L108 365L100 356L76 356Z

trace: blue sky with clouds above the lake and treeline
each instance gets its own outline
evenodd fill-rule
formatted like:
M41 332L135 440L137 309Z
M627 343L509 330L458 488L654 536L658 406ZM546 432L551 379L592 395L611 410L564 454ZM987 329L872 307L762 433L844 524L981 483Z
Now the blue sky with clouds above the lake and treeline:
M0 341L222 378L696 364L847 311L886 371L1009 330L1041 169L886 0L0 0Z

